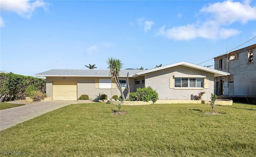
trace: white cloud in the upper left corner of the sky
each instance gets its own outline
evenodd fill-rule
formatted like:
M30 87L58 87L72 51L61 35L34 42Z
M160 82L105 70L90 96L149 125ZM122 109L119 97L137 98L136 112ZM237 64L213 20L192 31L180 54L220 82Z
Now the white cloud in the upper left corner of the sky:
M29 19L36 8L44 8L47 10L47 3L42 0L36 0L30 2L30 0L0 0L1 12L14 12L19 16ZM4 26L3 19L1 17L1 27Z

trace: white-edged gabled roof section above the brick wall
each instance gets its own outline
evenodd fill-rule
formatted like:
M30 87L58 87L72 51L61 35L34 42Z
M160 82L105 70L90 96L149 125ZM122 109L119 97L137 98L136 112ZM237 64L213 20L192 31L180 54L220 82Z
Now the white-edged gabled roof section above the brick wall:
M144 74L147 74L147 73L152 73L154 71L159 71L159 70L162 70L162 69L172 68L172 67L176 67L176 66L179 66L179 65L182 65L182 66L185 66L185 67L190 67L190 68L193 68L193 69L198 69L198 70L201 70L201 71L206 71L208 73L213 73L214 77L230 75L229 73L226 73L226 72L223 72L223 71L210 69L210 68L207 68L207 67L203 67L203 66L200 66L200 65L195 65L195 64L192 64L192 63L182 61L182 62L178 62L178 63L174 63L174 64L170 64L170 65L150 69L150 70L147 70L147 71L141 71L141 72L138 72L138 73L134 74L133 77L143 76Z

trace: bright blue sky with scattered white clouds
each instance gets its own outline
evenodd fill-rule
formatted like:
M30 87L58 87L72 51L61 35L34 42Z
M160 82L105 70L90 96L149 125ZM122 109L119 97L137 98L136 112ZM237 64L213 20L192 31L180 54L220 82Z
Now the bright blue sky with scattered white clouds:
M212 58L256 36L256 1L248 0L1 0L0 13L0 70L30 76L107 69L108 57L123 69L214 65Z

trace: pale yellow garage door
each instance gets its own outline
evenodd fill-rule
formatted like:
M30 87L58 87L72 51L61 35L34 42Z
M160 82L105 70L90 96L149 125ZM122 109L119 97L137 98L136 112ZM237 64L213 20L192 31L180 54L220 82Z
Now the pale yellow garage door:
M77 82L52 82L53 100L77 100Z

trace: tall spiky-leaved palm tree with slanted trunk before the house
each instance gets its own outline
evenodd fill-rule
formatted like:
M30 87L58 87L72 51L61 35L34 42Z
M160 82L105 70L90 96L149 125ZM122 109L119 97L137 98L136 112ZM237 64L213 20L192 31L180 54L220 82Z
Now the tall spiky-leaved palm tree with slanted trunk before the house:
M108 69L110 69L109 71L109 75L111 77L112 80L115 80L116 85L121 93L122 96L122 100L124 100L124 93L122 91L121 88L121 84L119 82L119 73L123 67L123 63L120 59L116 59L116 58L108 58L108 60L106 61L106 63L108 63ZM127 80L128 81L128 80Z

